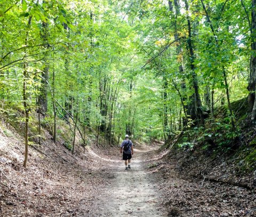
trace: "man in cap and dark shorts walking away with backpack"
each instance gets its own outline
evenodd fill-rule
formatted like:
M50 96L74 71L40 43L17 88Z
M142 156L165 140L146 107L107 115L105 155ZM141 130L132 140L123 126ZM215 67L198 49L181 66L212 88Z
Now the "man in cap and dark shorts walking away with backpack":
M132 144L132 141L129 139L129 135L125 135L125 140L122 142L120 146L121 154L122 154L122 151L123 151L123 160L125 164L125 170L128 170L128 168L129 169L131 168L131 158L133 155L133 144Z

